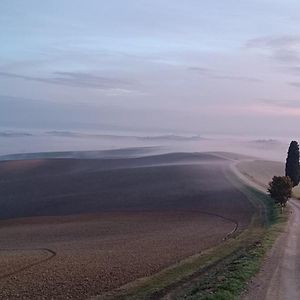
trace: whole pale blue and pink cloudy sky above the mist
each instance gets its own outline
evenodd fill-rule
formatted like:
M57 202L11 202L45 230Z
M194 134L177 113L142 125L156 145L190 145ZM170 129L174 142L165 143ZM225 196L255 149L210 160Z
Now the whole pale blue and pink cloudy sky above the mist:
M297 136L298 0L1 0L0 128Z

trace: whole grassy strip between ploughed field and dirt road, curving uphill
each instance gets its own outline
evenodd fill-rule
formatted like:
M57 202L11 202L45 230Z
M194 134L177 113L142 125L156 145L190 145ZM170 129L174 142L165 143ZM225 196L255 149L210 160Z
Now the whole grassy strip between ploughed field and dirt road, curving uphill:
M236 299L258 272L264 254L283 229L286 215L280 214L267 195L233 174L227 177L256 209L247 229L153 276L92 299Z

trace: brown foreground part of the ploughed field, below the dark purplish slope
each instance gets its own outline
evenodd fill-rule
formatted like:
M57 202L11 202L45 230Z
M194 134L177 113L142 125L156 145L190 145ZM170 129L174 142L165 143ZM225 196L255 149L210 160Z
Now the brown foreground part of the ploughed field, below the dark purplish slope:
M1 253L2 297L82 299L220 243L235 224L195 212L149 212L18 220L7 227L3 221L0 226L2 247L22 249ZM57 255L44 262L50 254L35 250L41 246Z

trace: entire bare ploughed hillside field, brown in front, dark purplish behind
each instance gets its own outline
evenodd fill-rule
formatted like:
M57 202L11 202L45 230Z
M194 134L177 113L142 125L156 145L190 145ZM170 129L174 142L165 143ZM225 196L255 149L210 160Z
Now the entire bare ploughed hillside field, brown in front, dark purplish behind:
M85 299L247 227L254 208L209 154L0 163L0 299Z

